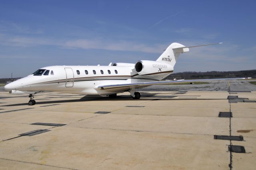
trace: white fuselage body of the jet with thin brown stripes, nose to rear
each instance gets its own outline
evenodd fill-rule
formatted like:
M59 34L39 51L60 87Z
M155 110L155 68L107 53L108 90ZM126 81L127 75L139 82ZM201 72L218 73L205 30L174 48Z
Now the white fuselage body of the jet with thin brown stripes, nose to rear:
M72 68L74 74L74 84L66 87L65 68ZM25 91L52 91L72 94L114 94L130 90L112 89L98 90L98 86L109 84L130 84L138 82L159 81L170 73L156 74L154 76L137 75L134 66L47 66L40 69L52 70L54 75L34 76L33 74L16 80L5 86L6 90L25 90ZM80 71L77 74L76 70ZM85 73L88 71L88 74ZM96 74L93 73L96 71ZM101 73L102 70L104 74ZM110 70L110 74L108 73ZM117 74L115 73L117 70ZM135 75L135 76L134 76Z

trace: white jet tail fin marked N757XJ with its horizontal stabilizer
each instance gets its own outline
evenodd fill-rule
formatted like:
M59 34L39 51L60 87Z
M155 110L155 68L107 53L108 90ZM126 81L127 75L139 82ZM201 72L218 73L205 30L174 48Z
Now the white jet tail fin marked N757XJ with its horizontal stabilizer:
M176 64L180 53L186 53L189 51L189 48L192 47L200 47L206 45L215 45L215 44L222 44L222 43L214 43L214 44L205 44L205 45L194 45L194 46L184 46L179 43L172 43L169 47L160 55L160 57L156 61L161 61L164 63L170 64L172 67Z

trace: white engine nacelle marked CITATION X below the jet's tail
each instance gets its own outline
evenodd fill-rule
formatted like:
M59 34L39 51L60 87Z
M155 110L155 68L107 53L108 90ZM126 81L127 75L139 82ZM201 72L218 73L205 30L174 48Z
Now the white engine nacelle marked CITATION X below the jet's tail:
M168 63L150 60L137 61L134 68L138 74L147 76L154 76L154 74L161 73L170 74L173 71L173 67Z

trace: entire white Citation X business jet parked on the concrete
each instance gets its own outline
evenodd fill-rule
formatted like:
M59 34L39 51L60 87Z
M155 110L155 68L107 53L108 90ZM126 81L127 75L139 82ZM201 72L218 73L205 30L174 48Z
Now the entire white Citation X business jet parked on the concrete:
M220 43L215 43L220 44ZM214 44L207 44L214 45ZM47 66L24 78L4 86L12 94L29 94L29 105L36 104L34 94L43 91L71 94L102 95L115 98L117 93L130 92L133 99L139 99L138 88L152 85L167 85L180 82L231 80L241 78L220 78L201 80L160 81L173 72L180 55L189 48L172 43L156 61L142 60L135 64L110 63L108 66Z

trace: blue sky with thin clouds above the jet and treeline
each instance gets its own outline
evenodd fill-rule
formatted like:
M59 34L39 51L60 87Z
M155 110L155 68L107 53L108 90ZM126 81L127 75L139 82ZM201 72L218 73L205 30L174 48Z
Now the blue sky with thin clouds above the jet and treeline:
M254 0L1 0L0 78L50 65L156 60L172 42L190 49L174 72L256 69Z

